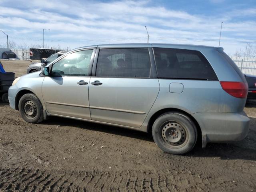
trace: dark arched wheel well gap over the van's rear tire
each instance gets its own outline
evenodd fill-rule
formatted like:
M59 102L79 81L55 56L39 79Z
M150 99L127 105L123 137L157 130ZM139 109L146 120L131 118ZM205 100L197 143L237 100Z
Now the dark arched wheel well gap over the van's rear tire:
M201 138L202 137L202 131L201 131L201 128L200 128L198 122L196 121L196 119L192 115L190 115L188 112L185 112L184 110L181 110L181 109L178 109L178 108L164 108L164 109L161 109L161 110L155 112L151 116L151 118L148 122L147 132L152 134L152 126L153 126L155 120L159 116L162 116L163 114L166 114L168 112L179 112L179 113L182 113L182 114L188 116L194 122L194 124L196 124L196 129L197 129L197 133L198 133L198 141L202 140L202 138Z

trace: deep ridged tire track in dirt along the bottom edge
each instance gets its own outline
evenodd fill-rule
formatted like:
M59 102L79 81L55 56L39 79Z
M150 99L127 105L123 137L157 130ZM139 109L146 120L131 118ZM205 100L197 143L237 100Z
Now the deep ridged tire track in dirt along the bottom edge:
M9 173L12 173L11 175ZM217 176L198 177L186 171L87 171L51 173L28 169L0 169L0 191L199 191L236 188L232 181L218 181ZM23 178L23 179L22 179ZM117 178L117 179L116 179ZM212 186L214 183L218 187ZM242 186L255 187L252 182L239 182ZM191 183L191 184L190 184ZM194 186L193 183L196 183ZM184 186L184 187L182 187ZM228 191L229 191L228 190Z

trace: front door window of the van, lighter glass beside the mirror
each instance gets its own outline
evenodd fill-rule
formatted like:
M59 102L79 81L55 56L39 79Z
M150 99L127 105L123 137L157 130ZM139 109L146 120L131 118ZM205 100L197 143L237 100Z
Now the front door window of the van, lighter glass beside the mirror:
M52 75L88 76L93 50L78 51L68 54L52 66Z

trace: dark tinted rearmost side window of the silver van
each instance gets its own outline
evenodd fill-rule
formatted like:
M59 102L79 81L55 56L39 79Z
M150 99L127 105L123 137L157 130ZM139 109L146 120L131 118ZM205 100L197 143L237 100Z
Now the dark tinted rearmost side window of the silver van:
M158 78L217 80L210 63L195 50L154 48Z

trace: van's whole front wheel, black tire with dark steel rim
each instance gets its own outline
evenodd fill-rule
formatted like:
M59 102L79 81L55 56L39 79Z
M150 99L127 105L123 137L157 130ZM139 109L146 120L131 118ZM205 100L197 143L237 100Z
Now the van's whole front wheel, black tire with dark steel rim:
M39 123L44 120L43 106L38 97L32 93L24 94L20 98L19 111L26 122Z

